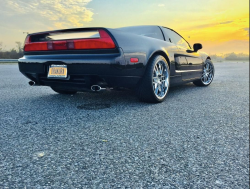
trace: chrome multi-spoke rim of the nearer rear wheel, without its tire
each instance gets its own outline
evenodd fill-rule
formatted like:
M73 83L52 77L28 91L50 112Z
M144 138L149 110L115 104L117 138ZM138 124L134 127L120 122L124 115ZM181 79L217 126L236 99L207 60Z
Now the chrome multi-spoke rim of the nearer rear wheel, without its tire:
M163 99L169 88L169 73L165 62L155 64L153 71L153 90L158 99Z

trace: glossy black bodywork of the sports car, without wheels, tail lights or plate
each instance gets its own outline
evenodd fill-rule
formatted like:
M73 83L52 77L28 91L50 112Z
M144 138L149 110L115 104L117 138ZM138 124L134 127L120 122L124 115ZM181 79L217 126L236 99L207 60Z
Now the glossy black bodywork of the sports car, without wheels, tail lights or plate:
M133 31L149 29L157 31L154 36L143 36ZM89 30L100 28L87 28ZM170 40L164 27L137 26L105 30L113 39L114 49L61 50L25 52L18 60L19 70L36 85L61 86L74 90L86 90L91 85L135 88L143 77L150 59L156 55L165 57L170 67L171 85L194 81L202 75L204 61L208 55L180 48ZM80 31L81 29L58 30L53 32ZM130 32L131 30L132 32ZM159 37L159 32L162 35ZM31 34L43 35L46 32ZM149 35L155 33L150 33ZM188 50L190 52L188 52ZM139 62L132 63L131 58ZM48 79L51 64L68 67L66 79Z

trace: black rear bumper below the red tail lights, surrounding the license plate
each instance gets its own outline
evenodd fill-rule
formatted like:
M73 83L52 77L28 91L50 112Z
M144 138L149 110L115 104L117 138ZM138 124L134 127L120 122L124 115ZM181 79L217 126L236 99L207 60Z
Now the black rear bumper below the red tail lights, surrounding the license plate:
M72 57L73 56L73 57ZM68 78L48 79L51 64L64 64ZM134 88L143 76L143 64L126 65L121 55L25 56L18 61L19 70L37 85L57 86L78 91L91 85Z

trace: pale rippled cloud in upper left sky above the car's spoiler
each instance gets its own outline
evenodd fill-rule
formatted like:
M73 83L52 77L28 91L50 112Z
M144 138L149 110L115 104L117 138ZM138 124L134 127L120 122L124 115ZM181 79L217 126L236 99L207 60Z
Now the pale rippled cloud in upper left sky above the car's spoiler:
M51 21L55 27L82 27L93 20L93 11L86 8L92 0L2 0L5 13L38 15ZM3 8L3 9L4 9ZM0 8L1 11L1 8Z

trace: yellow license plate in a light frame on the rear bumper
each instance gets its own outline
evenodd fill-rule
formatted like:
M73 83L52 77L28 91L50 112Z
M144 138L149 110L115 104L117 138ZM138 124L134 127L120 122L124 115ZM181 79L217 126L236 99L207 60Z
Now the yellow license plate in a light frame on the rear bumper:
M67 65L51 65L48 78L67 78Z

